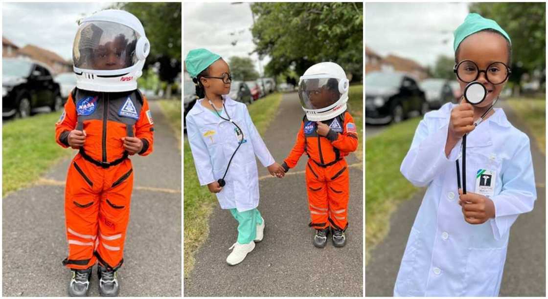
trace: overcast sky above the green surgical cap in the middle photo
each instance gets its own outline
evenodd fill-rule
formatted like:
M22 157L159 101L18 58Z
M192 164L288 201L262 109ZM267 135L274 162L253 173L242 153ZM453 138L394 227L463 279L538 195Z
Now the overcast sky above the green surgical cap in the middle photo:
M184 2L183 58L192 49L206 48L226 60L231 56L250 57L255 70L259 71L258 55L249 55L255 49L249 31L253 26L249 4ZM270 58L265 57L262 68L269 61Z

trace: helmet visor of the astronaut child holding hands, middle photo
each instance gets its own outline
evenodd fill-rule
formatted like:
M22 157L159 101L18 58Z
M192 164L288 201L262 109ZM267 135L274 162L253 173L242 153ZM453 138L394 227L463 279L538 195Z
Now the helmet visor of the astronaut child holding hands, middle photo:
M336 103L340 97L338 78L302 79L299 83L301 106L308 110L320 110Z

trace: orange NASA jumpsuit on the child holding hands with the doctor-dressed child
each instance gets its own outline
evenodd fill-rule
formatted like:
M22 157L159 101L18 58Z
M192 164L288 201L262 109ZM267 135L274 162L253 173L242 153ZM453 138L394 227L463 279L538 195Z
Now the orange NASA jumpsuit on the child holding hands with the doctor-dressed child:
M306 118L289 156L282 166L293 168L302 153L309 156L306 165L306 186L311 222L310 227L323 229L329 225L345 230L348 227L349 175L345 156L356 151L358 134L350 113L324 120L329 125L327 136L316 133L317 124Z

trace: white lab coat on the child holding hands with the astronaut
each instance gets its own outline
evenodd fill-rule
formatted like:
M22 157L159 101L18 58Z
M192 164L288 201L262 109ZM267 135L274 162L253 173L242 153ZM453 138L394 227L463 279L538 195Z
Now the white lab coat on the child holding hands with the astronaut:
M244 103L225 98L226 110L221 116L238 124L245 142L234 155L226 174L226 185L216 193L222 209L238 209L239 212L259 205L259 175L255 155L263 166L273 164L274 158L266 148L255 128ZM186 116L186 131L200 185L208 185L222 178L230 157L238 146L236 126L217 116L196 101Z

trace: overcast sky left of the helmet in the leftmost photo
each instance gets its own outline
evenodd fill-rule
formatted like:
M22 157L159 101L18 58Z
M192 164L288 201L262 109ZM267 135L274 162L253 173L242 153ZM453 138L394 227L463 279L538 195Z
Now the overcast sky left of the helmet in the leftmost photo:
M19 47L33 44L72 59L76 21L112 4L3 3L2 35Z

